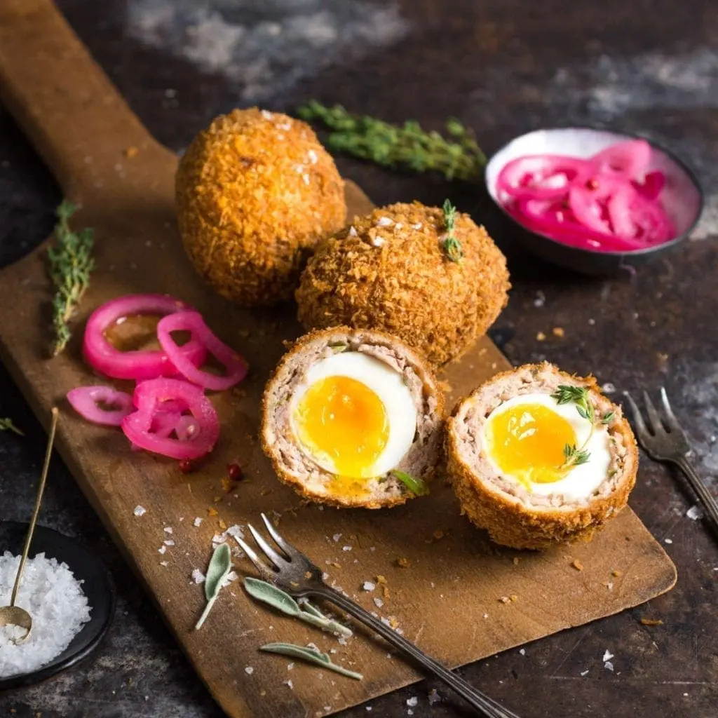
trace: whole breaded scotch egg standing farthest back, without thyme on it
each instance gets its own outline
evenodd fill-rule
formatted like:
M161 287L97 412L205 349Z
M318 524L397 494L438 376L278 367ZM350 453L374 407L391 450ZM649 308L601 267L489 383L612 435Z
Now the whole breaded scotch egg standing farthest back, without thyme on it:
M180 159L177 222L195 269L243 306L292 297L320 238L344 226L344 182L304 122L234 110Z

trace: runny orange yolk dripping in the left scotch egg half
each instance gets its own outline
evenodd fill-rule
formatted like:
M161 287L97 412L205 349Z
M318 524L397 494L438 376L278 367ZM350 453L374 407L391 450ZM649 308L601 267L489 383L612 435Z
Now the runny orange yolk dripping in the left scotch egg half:
M345 477L370 477L389 438L383 401L348 376L315 381L299 400L294 418L304 446L329 457Z

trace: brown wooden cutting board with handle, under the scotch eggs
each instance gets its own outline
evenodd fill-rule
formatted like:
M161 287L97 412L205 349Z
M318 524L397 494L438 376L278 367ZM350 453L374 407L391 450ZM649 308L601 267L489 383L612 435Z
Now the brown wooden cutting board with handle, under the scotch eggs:
M329 714L419 676L368 638L340 645L264 610L238 582L225 589L205 628L192 630L203 597L190 574L205 569L220 520L243 524L257 521L261 511L276 512L281 531L326 567L332 581L370 610L395 617L404 635L451 666L638 605L673 586L675 567L630 509L591 544L519 554L490 544L442 486L392 510L300 505L272 475L256 441L264 382L282 342L300 333L294 308L243 311L197 279L174 224L177 158L147 134L49 0L0 0L0 76L4 102L65 195L82 203L78 226L95 228L97 259L75 338L52 360L45 248L0 274L1 359L41 421L47 424L52 405L62 407L62 457L230 716ZM370 208L351 182L347 200L350 215ZM194 304L251 364L242 391L213 397L222 436L212 459L192 475L182 475L175 462L134 454L120 432L86 424L64 400L70 388L97 381L83 364L78 340L89 312L132 292L167 292ZM495 346L481 340L447 371L449 403L507 366ZM221 480L233 461L247 478L225 493ZM138 505L146 508L144 516L134 516ZM218 515L210 516L210 508ZM194 526L195 517L203 519L201 526ZM165 527L172 527L171 536ZM174 546L159 554L168 539ZM398 567L398 558L408 559L409 567ZM583 564L581 572L572 567L574 559ZM251 569L240 564L240 571ZM388 597L360 589L378 574L386 577ZM375 597L382 598L381 607ZM289 673L289 661L257 652L270 640L335 648L335 661L363 671L365 679L299 664ZM284 684L289 678L294 689Z

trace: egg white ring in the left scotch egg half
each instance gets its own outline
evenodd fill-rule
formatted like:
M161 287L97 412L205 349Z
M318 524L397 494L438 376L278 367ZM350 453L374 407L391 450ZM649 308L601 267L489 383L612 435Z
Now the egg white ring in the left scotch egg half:
M325 454L315 454L310 447L304 446L299 439L299 432L295 425L297 405L302 396L312 384L330 376L346 376L360 381L381 400L386 411L389 426L388 439L383 452L379 454L376 462L368 469L367 477L383 476L395 468L406 455L414 443L416 434L416 404L411 396L409 387L404 383L401 374L374 357L360 352L342 352L314 364L299 384L289 406L290 426L299 446L318 465L332 474L339 474L331 457Z

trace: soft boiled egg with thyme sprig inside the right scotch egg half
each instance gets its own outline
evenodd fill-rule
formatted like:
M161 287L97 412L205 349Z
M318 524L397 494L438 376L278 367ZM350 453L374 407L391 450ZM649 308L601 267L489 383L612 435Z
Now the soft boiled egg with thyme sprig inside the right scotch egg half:
M585 498L605 480L611 463L607 428L592 429L576 404L558 404L546 393L526 393L500 404L485 421L482 444L499 475L539 495ZM584 449L588 460L567 466L567 446Z

